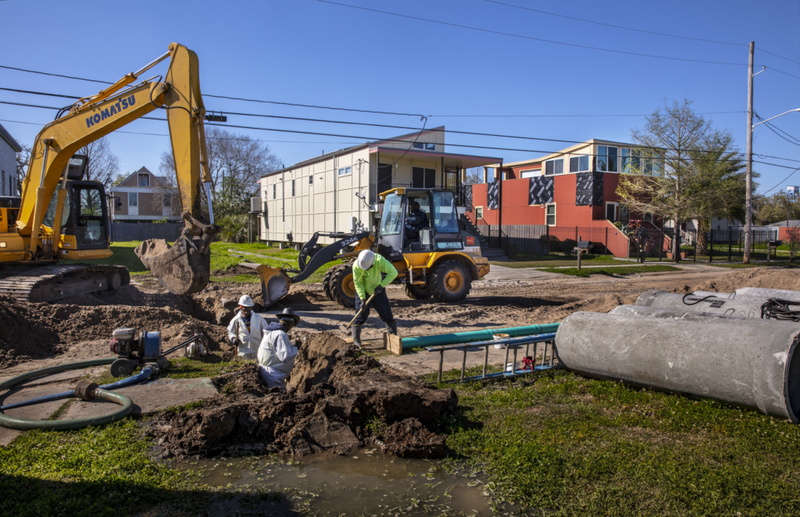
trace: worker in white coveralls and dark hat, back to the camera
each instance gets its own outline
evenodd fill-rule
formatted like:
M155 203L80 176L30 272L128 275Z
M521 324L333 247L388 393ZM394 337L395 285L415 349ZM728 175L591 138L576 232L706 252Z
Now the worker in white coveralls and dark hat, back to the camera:
M269 324L258 347L258 374L267 387L286 391L286 381L297 357L297 347L289 341L289 331L300 323L300 316L287 307L278 314L278 321Z

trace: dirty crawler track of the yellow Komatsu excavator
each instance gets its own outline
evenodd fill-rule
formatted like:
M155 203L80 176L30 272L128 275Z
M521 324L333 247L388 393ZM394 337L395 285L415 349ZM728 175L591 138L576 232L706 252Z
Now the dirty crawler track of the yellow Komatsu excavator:
M0 269L0 296L54 302L80 294L116 291L130 282L130 273L123 266L11 266Z

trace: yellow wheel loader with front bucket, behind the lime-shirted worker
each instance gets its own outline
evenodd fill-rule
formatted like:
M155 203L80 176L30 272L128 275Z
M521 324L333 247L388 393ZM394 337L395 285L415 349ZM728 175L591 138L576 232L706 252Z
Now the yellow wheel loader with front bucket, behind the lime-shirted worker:
M403 284L409 298L433 297L439 302L466 298L473 280L489 273L489 261L480 254L477 243L469 243L458 226L458 212L450 191L395 188L380 194L381 220L377 233L366 229L352 233L315 233L303 245L297 269L259 266L264 305L289 293L292 283L308 278L332 260L343 262L330 268L322 280L325 294L344 307L355 306L352 262L361 250L372 249L389 259L397 268L395 283ZM407 216L419 203L428 225L412 228ZM319 237L337 238L324 248L317 247ZM289 276L294 274L294 276Z

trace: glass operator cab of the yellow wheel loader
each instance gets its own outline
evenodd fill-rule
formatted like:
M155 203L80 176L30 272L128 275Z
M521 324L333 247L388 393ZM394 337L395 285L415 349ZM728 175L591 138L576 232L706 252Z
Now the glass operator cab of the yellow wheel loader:
M381 254L390 260L401 260L406 253L463 249L452 192L398 188L382 196L377 244ZM424 214L421 223L419 217L413 218L415 203Z

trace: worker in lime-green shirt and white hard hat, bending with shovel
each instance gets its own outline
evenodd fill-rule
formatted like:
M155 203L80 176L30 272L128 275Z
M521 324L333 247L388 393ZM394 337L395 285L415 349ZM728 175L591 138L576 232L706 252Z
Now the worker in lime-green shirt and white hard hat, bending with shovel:
M364 250L358 254L353 264L353 283L356 287L356 314L353 321L353 344L361 348L361 326L367 322L370 308L374 307L381 320L386 324L389 334L397 335L397 322L392 316L392 306L386 296L386 286L397 278L397 270L391 262L372 250ZM362 305L375 295L369 305L361 311ZM361 311L361 312L359 312Z

